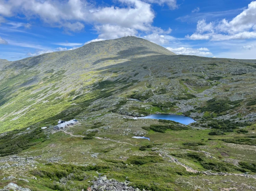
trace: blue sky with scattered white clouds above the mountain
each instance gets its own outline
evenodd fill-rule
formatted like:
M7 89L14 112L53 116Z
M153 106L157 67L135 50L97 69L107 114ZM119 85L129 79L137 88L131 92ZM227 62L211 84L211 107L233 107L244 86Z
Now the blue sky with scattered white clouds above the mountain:
M124 33L177 54L256 59L256 1L0 0L0 59L76 49Z

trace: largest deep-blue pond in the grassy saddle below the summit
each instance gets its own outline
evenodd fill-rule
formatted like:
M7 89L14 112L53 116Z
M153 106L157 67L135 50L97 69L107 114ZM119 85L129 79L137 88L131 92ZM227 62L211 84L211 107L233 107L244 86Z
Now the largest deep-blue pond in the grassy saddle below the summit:
M143 119L165 119L165 120L171 120L171 121L176 121L184 125L188 125L189 123L194 123L195 120L186 117L183 115L174 115L174 114L152 114L152 115L147 115L144 117L140 117Z

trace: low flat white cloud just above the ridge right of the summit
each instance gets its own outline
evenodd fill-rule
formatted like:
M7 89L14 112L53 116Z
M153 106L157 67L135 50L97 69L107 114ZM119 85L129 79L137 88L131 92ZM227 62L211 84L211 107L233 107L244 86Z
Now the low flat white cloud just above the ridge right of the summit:
M169 48L167 47L168 50L171 52L174 52L176 54L184 54L184 55L195 55L195 56L212 56L212 53L209 52L208 48L199 48L199 49L194 49L194 48Z

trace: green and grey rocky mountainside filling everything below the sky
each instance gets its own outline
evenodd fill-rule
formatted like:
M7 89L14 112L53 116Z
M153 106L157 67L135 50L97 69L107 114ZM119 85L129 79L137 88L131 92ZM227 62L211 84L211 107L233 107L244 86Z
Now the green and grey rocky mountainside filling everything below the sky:
M141 190L256 188L256 60L123 37L0 60L0 79L0 179L33 191L109 184L98 173ZM133 118L155 113L196 122ZM59 119L79 124L55 131Z

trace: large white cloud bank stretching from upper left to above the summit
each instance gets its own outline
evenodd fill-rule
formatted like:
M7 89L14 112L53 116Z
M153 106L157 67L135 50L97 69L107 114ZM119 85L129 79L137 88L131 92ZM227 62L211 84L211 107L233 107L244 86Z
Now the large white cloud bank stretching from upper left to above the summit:
M176 0L117 0L121 6L95 6L86 0L0 0L0 16L23 15L27 20L40 19L50 27L63 28L66 33L79 32L91 24L98 39L120 38L126 34L168 34L153 27L155 12L151 3L177 8ZM30 27L29 24L10 22L12 27Z

